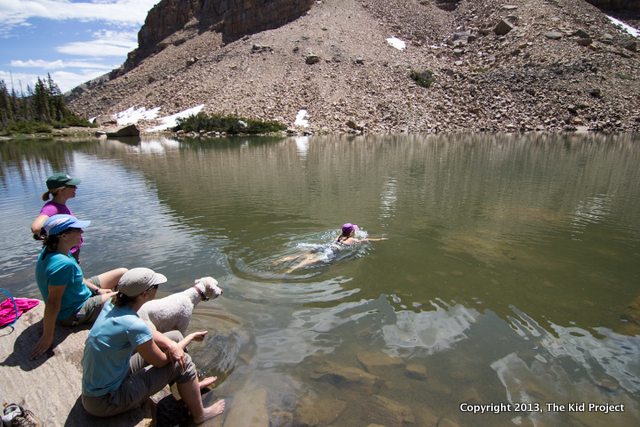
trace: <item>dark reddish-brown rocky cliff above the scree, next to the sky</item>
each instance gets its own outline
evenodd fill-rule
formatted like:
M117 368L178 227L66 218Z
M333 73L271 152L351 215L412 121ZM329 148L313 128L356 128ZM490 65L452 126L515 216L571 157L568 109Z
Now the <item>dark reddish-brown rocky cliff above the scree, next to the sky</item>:
M280 27L299 18L315 0L162 0L149 11L138 33L138 48L129 54L124 71L168 44L182 44L206 31L222 34L229 43L246 34ZM183 32L186 30L186 32ZM171 38L180 32L179 37Z

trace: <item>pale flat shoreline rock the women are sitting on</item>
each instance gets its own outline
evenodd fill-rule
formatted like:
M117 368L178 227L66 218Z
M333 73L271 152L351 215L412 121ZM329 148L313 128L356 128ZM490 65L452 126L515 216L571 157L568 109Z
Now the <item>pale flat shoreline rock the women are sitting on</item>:
M175 417L179 405L168 387L152 397L155 404L147 402L140 409L110 418L89 415L80 401L80 363L90 327L57 326L52 350L38 360L29 360L42 334L44 305L41 301L20 316L16 324L0 329L0 384L4 402L29 409L47 427L147 427L156 414Z

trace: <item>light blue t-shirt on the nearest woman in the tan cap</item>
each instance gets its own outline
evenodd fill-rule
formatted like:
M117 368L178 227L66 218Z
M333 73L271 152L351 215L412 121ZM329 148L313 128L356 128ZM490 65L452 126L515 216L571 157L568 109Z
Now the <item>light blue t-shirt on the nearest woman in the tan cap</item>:
M82 394L97 397L117 390L129 373L133 350L150 339L151 329L131 307L105 303L84 343Z

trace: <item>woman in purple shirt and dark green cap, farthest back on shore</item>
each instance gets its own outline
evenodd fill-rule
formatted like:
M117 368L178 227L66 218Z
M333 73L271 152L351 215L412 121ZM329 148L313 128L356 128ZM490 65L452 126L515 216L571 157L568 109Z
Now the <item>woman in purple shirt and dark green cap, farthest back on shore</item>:
M44 234L42 233L42 227L44 222L54 215L64 214L75 215L67 207L67 200L76 197L76 186L80 184L80 180L77 178L71 178L66 173L56 173L47 178L47 191L42 194L42 200L47 202L42 207L40 215L31 224L31 232L33 238L36 240L42 240ZM49 200L49 196L52 195L53 199ZM71 255L80 262L80 246L82 246L82 239L78 246L71 248Z

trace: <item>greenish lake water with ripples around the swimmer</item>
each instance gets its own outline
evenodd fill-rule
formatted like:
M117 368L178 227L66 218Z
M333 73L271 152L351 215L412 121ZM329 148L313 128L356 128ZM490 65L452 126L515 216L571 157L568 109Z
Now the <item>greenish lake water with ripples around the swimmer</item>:
M14 296L40 298L29 226L59 171L82 179L86 276L149 267L159 296L217 278L190 350L225 425L234 404L274 425L640 423L638 135L24 140L0 158ZM345 222L388 240L278 262Z

